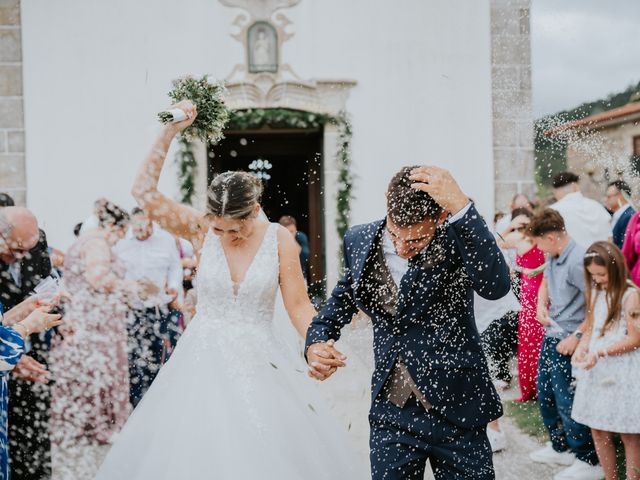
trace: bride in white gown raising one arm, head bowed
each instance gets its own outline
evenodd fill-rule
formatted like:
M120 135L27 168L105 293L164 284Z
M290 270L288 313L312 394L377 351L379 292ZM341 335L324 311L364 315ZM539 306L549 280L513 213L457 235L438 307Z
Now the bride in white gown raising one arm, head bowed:
M197 115L190 102L175 107L188 118L162 128L133 195L155 221L200 250L197 315L96 478L365 478L346 434L274 333L278 288L301 336L316 312L293 237L259 217L260 181L244 172L218 175L206 215L158 192L171 140ZM320 365L311 372L319 379L327 373Z

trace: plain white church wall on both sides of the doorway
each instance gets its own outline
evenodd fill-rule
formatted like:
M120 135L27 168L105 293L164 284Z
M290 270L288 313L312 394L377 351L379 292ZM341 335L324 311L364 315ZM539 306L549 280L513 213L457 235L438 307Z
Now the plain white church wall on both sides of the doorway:
M283 61L304 79L358 82L347 102L354 222L381 217L390 176L413 163L450 168L490 215L488 1L398 5L302 0L285 11L295 36ZM216 0L22 2L28 202L52 245L69 245L73 225L99 196L133 206L131 182L170 80L183 73L222 79L244 61L229 35L238 13ZM174 168L161 188L176 194Z

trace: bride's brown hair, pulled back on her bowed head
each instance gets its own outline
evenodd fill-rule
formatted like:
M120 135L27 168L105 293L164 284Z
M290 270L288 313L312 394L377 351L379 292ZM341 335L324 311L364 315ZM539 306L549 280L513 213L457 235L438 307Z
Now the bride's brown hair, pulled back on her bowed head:
M216 217L244 220L262 197L262 181L247 172L224 172L209 185L207 213Z

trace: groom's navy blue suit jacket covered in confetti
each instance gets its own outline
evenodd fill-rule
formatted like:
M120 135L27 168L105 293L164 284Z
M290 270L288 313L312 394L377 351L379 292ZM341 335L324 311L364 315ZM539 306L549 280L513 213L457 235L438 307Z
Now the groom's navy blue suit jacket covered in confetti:
M439 227L431 243L409 261L393 314L368 288L365 272L385 221L350 229L344 238L345 273L307 332L306 346L338 340L362 310L374 330L372 399L380 394L398 357L438 412L473 428L502 415L473 316L473 291L486 299L509 291L509 269L474 206Z

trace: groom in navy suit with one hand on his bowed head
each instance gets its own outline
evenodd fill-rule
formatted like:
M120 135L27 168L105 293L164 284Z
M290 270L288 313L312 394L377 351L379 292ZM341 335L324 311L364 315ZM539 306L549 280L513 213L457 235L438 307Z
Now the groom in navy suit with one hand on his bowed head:
M307 332L310 374L345 357L333 343L362 310L373 321L374 480L495 478L486 426L502 415L473 317L473 291L498 299L509 271L473 203L446 170L405 167L387 217L344 238L346 271Z

